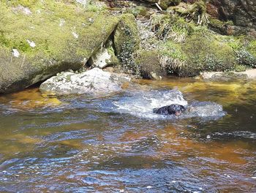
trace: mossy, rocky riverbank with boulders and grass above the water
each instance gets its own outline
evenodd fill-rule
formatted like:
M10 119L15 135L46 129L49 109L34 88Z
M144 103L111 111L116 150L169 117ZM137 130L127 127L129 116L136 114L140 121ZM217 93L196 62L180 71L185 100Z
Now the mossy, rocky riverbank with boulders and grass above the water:
M256 67L251 1L20 0L0 6L0 93L69 69L111 66L161 79Z

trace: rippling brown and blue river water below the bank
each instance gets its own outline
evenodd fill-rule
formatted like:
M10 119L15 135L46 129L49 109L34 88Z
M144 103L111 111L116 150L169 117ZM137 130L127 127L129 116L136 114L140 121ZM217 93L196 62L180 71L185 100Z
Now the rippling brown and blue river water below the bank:
M100 98L0 96L0 192L256 192L256 82L138 83ZM173 89L223 111L151 113Z

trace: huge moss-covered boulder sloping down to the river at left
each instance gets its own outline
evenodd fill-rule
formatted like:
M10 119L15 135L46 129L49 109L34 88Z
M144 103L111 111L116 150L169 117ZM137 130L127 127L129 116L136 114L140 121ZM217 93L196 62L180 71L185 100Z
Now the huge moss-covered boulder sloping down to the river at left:
M69 1L1 1L0 7L0 93L83 67L119 21Z

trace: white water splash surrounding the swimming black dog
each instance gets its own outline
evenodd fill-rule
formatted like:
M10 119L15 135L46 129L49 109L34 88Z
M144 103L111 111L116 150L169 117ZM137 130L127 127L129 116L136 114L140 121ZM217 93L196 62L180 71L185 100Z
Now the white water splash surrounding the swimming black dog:
M162 116L153 113L155 107L178 104L184 105L187 110L181 116ZM222 105L215 102L192 102L188 104L181 91L176 89L169 91L140 91L124 96L116 102L118 113L129 113L140 118L162 119L162 118L219 118L225 116Z

